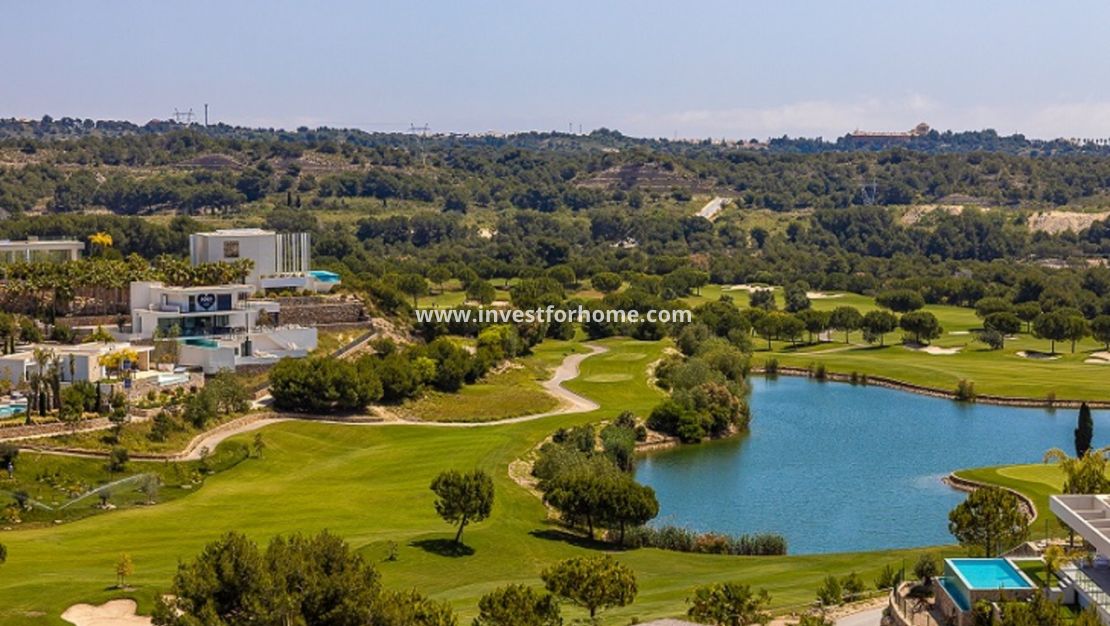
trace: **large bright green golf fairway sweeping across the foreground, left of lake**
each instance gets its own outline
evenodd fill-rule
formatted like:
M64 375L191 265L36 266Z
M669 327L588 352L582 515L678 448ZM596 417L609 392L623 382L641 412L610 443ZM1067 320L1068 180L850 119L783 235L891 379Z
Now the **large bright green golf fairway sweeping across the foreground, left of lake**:
M0 625L61 625L57 616L69 605L121 595L135 597L149 610L176 562L229 529L265 541L323 528L377 563L387 585L417 587L451 600L465 624L483 593L511 582L538 584L544 566L592 552L546 521L543 505L511 482L507 466L556 427L612 417L625 408L643 415L660 397L643 373L665 344L599 343L612 352L587 359L582 380L568 384L603 405L592 414L481 428L282 423L264 431L262 460L211 476L188 497L57 527L2 532L9 557L0 566ZM627 372L637 375L619 380ZM22 471L32 471L31 460L24 461ZM475 553L450 557L425 549L424 542L434 546L452 536L433 511L427 485L443 470L475 466L494 475L497 489L492 518L466 532ZM382 561L391 541L401 546L400 559L392 563ZM114 563L124 552L135 564L131 582L137 589L129 594L110 589ZM632 606L606 613L605 623L679 615L690 587L712 580L750 582L766 587L777 607L799 605L814 597L828 574L858 571L870 582L884 565L912 564L920 552L787 557L622 553L618 558L638 575L640 593Z

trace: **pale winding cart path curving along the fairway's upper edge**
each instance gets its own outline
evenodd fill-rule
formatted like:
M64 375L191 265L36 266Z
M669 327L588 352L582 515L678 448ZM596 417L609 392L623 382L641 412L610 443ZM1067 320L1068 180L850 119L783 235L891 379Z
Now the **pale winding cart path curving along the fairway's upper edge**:
M542 420L544 417L552 417L554 415L566 415L571 413L588 413L591 411L596 411L599 405L589 400L588 397L578 395L573 391L563 386L563 383L567 381L573 381L578 377L579 368L582 362L591 356L596 356L608 352L608 349L602 347L599 345L585 344L589 349L589 352L581 354L571 354L563 360L562 363L555 367L555 373L551 378L539 383L539 386L544 388L547 393L552 394L558 398L561 406L553 411L545 411L543 413L532 413L528 415L519 415L517 417L506 417L504 420L492 420L490 422L426 422L423 420L405 420L405 418L391 418L380 422L349 422L340 420L313 420L313 422L323 422L325 424L343 424L346 426L428 426L438 428L478 428L483 426L501 426L504 424L518 424L521 422L531 422L533 420ZM256 420L245 421L241 423L230 423L226 424L226 428L216 427L213 431L199 435L192 442L184 452L176 455L178 461L196 461L201 457L201 451L208 448L209 451L215 450L215 446L229 437L240 435L243 433L249 433L251 431L256 431L263 428L271 424L278 424L280 422L289 422L296 420L296 417L260 417Z

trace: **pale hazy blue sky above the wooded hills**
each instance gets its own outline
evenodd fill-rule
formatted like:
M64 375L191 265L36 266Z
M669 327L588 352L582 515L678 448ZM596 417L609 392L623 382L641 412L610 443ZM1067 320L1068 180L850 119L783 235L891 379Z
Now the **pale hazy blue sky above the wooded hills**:
M0 0L0 117L1110 137L1110 3Z

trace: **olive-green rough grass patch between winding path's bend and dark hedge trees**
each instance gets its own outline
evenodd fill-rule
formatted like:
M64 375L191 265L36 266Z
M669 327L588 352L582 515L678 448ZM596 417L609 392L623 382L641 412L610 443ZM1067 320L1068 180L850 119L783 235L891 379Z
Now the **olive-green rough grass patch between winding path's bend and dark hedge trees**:
M582 344L546 341L513 368L490 374L458 393L430 392L424 397L397 408L410 417L431 422L491 422L532 413L552 411L558 400L539 386L569 354L585 352Z

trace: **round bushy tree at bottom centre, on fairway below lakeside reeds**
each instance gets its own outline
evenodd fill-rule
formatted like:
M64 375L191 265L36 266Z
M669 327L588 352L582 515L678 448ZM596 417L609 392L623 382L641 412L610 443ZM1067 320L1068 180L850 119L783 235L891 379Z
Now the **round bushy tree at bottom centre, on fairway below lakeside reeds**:
M547 590L589 612L627 606L636 597L636 576L612 556L579 556L556 563L539 575Z

